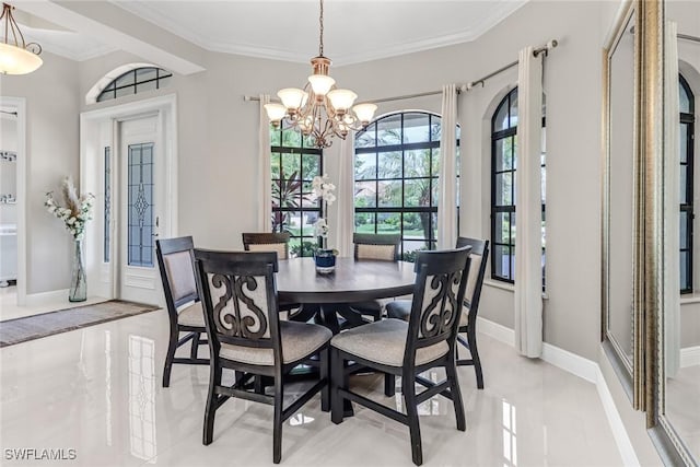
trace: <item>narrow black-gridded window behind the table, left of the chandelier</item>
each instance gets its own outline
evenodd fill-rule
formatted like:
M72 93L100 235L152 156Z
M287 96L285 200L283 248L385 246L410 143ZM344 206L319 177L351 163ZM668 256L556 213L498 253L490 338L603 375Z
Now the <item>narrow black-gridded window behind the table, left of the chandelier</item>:
M312 196L312 180L323 174L323 151L284 124L270 128L270 139L272 231L291 234L291 256L313 256L318 247L313 225L322 212L320 201Z

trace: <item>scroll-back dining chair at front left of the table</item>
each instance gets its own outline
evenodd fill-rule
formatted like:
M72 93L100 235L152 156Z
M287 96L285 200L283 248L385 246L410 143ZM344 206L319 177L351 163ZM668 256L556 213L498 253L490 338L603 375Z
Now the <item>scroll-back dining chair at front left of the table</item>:
M272 462L282 453L282 423L320 392L322 410L330 409L328 343L323 326L279 319L276 252L195 250L197 287L202 296L211 354L202 442L213 441L217 410L231 397L273 406ZM284 376L317 358L318 381L284 407ZM224 369L234 383L222 384ZM271 394L252 389L250 376L272 380Z

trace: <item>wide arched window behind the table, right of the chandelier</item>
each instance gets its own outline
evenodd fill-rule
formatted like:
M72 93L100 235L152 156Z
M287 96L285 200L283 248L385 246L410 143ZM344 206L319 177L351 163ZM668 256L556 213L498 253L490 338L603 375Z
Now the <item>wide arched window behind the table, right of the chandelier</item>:
M355 137L354 231L400 234L405 260L435 248L441 120L425 112L392 114Z

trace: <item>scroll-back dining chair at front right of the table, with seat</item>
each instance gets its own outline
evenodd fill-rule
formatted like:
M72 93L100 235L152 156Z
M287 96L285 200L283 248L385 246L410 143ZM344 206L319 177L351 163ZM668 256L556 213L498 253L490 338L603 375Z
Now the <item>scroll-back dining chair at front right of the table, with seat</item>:
M467 288L470 247L420 252L408 323L386 318L349 329L330 340L331 421L341 423L343 402L350 400L408 425L413 464L423 462L418 406L442 395L454 404L457 430L466 430L457 380L456 349L459 308ZM353 362L353 363L350 363ZM349 387L357 365L401 377L406 413L374 401ZM420 374L444 367L445 380L434 383ZM417 393L416 383L425 387Z

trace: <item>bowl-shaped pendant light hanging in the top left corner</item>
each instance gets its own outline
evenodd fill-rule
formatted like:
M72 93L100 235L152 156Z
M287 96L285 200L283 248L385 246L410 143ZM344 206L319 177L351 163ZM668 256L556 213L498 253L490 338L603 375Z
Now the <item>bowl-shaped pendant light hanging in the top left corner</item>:
M0 25L4 31L4 40L0 43L0 73L26 74L39 68L42 46L36 43L24 43L24 36L12 16L14 7L2 3ZM2 22L4 20L4 22Z

